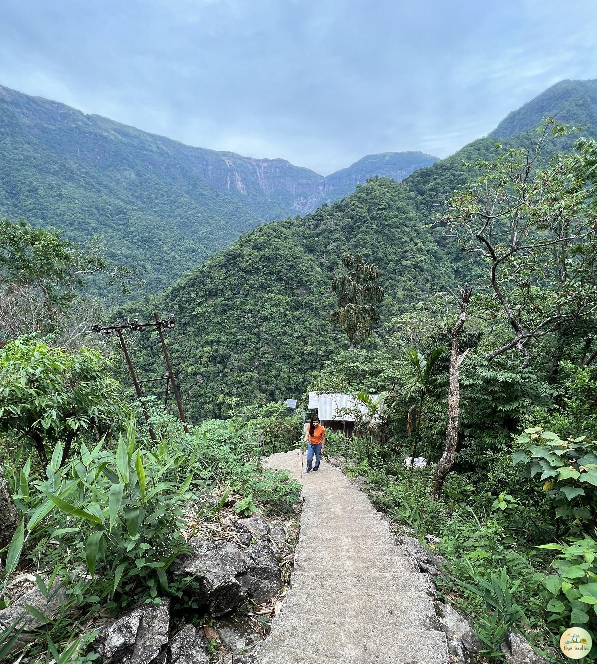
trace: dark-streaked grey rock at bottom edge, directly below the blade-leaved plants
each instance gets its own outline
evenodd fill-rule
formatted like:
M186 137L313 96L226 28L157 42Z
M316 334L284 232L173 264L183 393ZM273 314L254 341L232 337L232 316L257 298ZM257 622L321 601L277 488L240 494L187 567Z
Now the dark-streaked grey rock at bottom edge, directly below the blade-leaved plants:
M92 649L102 664L155 664L168 642L170 603L143 606L109 623L98 634ZM163 660L162 660L163 661Z

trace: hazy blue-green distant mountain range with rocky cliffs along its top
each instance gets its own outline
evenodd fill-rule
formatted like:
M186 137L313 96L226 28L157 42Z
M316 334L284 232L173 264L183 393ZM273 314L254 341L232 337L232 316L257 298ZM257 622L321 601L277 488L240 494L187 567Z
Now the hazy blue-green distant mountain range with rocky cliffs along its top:
M284 159L188 147L0 86L0 214L100 234L149 291L171 284L263 220L304 214L379 173L402 179L435 161L370 155L329 178Z

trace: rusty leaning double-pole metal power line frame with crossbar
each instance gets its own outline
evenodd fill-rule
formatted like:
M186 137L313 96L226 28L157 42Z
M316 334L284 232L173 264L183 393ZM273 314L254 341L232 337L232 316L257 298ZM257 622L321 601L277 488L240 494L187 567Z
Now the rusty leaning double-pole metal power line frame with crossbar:
M110 335L113 332L117 333L118 340L120 342L120 347L127 361L129 372L131 373L131 378L133 379L135 392L137 392L137 396L140 399L143 397L143 390L141 390L141 384L143 384L144 382L157 382L158 380L165 380L166 396L165 396L164 406L166 406L168 404L168 389L170 385L172 386L172 393L174 394L174 399L176 400L176 406L178 406L178 415L180 416L180 422L182 422L184 432L188 434L188 425L186 424L186 419L184 418L184 412L182 410L182 402L180 402L180 395L178 394L178 388L176 388L174 371L172 371L172 363L170 363L170 356L168 355L168 350L166 349L166 342L164 340L164 333L163 333L164 328L172 329L172 327L174 327L174 325L176 324L176 320L174 319L173 316L170 316L169 318L162 320L160 319L159 314L157 313L154 313L153 318L154 320L151 323L139 323L138 318L133 318L130 323L123 323L121 325L103 325L103 326L94 325L92 327L92 330L94 332L105 335ZM157 333L160 337L162 351L164 353L164 359L166 361L166 369L168 370L168 375L160 376L159 378L145 378L144 380L139 380L139 378L137 378L137 374L135 373L135 367L133 367L133 362L131 361L131 355L129 354L129 349L127 348L127 345L125 343L123 331L131 330L131 331L143 332L143 330L145 330L147 327L155 327L157 329ZM141 403L141 408L143 410L143 415L145 416L145 420L147 421L149 427L149 436L151 436L151 440L155 442L155 434L153 433L151 426L149 426L149 415L147 414L147 410L143 405L143 403Z

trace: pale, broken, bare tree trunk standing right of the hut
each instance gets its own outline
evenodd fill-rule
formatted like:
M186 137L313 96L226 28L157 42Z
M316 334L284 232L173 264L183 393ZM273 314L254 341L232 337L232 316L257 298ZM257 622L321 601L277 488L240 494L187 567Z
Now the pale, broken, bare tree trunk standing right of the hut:
M450 332L450 384L448 386L448 427L446 428L446 447L444 454L433 473L431 491L434 499L438 500L448 473L454 465L456 445L458 444L458 423L460 420L460 367L470 349L458 353L458 333L466 320L466 309L470 300L470 288L460 288L460 316Z

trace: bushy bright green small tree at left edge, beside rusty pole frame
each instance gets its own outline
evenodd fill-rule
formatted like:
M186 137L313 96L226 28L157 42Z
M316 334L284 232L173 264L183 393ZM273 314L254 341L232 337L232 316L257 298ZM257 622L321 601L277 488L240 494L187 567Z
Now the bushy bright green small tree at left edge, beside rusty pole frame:
M64 462L77 436L119 432L124 406L112 370L90 349L68 353L33 337L10 341L0 354L0 433L33 446L45 464L58 441Z

